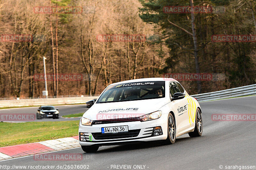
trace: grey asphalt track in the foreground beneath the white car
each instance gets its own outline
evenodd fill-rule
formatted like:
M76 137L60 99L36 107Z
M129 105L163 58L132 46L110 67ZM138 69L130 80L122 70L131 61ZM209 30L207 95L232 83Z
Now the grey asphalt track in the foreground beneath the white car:
M89 169L106 170L117 169L114 165L131 165L132 169L145 165L140 169L147 170L219 170L221 167L227 169L225 166L256 166L256 122L211 120L211 115L216 113L255 114L256 97L217 100L200 105L203 113L202 137L190 138L185 134L178 137L173 145L144 143L102 146L96 153L84 153L80 147L54 152L82 153L82 161L36 161L33 156L28 156L1 161L0 165L89 165ZM78 109L73 106L68 108L74 112Z

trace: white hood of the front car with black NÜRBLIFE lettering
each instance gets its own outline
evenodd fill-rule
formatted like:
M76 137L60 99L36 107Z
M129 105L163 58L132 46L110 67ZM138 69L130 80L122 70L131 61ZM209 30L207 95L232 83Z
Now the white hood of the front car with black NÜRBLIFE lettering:
M164 98L122 101L113 103L95 103L83 117L91 120L132 118L157 111L166 104Z

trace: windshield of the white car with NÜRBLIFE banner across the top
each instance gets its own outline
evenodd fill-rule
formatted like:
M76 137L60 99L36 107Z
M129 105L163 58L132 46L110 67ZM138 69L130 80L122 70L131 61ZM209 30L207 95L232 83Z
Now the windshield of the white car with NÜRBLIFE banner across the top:
M164 97L164 81L124 83L109 86L97 103L157 99Z

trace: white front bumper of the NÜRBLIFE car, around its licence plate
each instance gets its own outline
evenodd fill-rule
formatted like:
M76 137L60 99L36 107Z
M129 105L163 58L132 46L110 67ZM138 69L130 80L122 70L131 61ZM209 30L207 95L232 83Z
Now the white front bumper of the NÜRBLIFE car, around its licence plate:
M79 144L82 146L90 145L118 145L123 143L136 143L146 141L164 140L167 138L167 116L163 114L159 119L146 122L121 122L121 123L107 123L107 124L93 124L92 126L84 126L79 123ZM128 126L127 133L117 134L101 134L101 128L113 126ZM162 135L152 136L154 127L161 127ZM81 141L80 133L84 133L86 141ZM89 140L91 136L91 141ZM108 137L106 137L108 136ZM122 136L122 137L121 137ZM128 137L126 137L128 136ZM105 139L107 138L107 139Z

